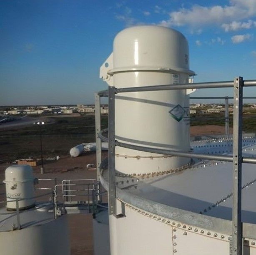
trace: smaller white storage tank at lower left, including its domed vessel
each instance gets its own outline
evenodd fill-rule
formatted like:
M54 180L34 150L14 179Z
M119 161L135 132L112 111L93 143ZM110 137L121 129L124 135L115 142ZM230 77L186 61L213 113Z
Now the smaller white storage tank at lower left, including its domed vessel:
M5 170L7 207L0 208L0 247L4 255L70 255L68 216L57 208L54 216L51 192L47 202L36 202L33 169L14 165ZM13 199L23 199L16 202ZM25 199L25 200L24 200ZM8 202L11 201L11 202Z

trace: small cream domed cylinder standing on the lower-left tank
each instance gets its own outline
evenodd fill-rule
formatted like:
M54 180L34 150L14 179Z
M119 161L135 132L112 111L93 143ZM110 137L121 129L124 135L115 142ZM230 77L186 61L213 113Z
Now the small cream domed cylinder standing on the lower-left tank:
M28 165L9 166L5 170L5 188L8 210L16 210L15 199L31 198L19 201L19 209L24 210L35 205L35 177L33 169Z

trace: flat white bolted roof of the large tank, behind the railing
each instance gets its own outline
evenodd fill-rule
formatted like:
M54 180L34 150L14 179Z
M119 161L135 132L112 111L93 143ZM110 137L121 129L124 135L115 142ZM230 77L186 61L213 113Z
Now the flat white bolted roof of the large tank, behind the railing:
M210 139L191 142L196 153L230 155L232 139ZM243 156L256 157L256 138L243 139ZM195 159L196 161L196 159ZM128 177L119 174L117 188L139 196L194 213L227 220L232 219L232 162L201 161L171 173ZM106 175L103 178L107 179ZM243 163L242 220L256 224L255 165ZM103 181L105 183L105 181ZM105 188L108 188L107 186Z

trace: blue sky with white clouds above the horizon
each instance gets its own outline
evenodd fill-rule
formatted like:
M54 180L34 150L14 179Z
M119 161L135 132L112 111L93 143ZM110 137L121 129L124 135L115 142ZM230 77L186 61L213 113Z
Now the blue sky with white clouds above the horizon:
M195 82L256 79L256 0L0 0L0 105L92 104L115 35L141 24L186 36Z

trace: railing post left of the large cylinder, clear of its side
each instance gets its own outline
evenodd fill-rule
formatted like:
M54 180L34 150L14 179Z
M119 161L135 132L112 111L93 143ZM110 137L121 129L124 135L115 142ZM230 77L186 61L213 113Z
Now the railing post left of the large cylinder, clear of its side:
M100 180L100 163L101 163L101 140L98 137L101 124L100 124L100 96L95 93L95 141L96 141L96 173L97 181Z

